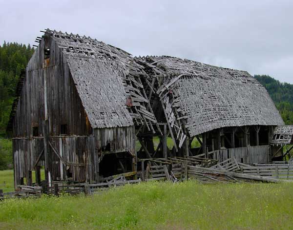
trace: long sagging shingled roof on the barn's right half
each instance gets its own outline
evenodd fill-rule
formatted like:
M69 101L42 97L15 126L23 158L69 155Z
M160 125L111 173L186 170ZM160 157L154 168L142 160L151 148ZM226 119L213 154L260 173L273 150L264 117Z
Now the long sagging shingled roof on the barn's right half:
M246 71L168 56L137 62L145 65L148 81L155 79L153 90L180 143L184 133L192 137L229 126L284 125L266 89Z

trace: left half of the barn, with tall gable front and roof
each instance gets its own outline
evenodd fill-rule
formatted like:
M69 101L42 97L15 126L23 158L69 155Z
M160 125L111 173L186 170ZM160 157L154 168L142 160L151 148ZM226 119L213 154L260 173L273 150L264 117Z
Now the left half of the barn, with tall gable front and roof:
M24 178L31 185L33 170L40 183L42 165L49 183L135 172L135 127L157 125L140 82L143 67L127 52L89 37L43 32L21 75L7 127L15 185Z

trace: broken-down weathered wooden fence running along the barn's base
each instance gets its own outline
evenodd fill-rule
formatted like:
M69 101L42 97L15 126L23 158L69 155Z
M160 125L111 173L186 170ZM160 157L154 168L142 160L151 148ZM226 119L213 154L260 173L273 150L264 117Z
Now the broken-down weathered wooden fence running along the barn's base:
M197 160L197 159L196 159ZM211 182L237 182L237 181L263 181L263 182L293 182L293 163L268 163L246 165L237 162L233 157L216 165L215 161L203 160L201 165L208 164L211 167L201 167L194 159L170 158L166 162L154 160L147 163L145 171L141 171L139 180L126 180L127 175L134 172L114 175L104 178L105 182L88 183L62 183L55 182L42 187L19 186L17 191L3 193L0 190L0 200L6 198L40 197L42 194L60 195L69 193L71 195L84 193L89 195L92 192L105 190L112 187L124 186L126 184L140 183L152 180L168 180L173 183L188 179L195 179L202 183Z

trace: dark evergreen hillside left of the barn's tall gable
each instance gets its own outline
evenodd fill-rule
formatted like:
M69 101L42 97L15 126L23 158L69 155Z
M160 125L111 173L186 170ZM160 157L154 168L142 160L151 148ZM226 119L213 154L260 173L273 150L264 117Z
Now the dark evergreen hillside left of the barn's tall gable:
M0 45L0 136L5 133L21 69L33 53L30 45L15 42Z

